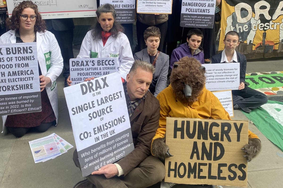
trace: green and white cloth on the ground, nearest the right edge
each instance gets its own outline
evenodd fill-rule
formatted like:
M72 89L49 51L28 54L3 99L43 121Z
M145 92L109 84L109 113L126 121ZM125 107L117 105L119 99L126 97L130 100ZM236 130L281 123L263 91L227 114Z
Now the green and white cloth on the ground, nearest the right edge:
M283 151L283 103L268 101L250 114L242 111L266 138Z

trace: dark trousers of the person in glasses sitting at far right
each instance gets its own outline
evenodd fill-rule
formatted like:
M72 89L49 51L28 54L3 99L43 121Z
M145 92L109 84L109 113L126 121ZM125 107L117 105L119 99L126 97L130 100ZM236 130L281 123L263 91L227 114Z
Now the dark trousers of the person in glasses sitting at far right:
M250 113L252 109L256 109L267 103L267 96L257 90L245 86L246 91L232 90L233 105L237 104L242 110Z

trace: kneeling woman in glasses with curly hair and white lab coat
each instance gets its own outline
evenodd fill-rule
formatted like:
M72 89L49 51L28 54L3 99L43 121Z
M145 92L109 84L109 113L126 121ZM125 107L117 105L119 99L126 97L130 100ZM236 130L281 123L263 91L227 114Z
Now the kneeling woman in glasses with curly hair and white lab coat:
M58 121L56 78L63 69L63 58L57 40L45 30L45 23L32 1L23 1L16 6L7 20L11 30L0 37L0 44L36 42L42 111L27 114L2 116L3 126L16 137L23 136L30 129L46 131ZM47 55L47 56L46 56ZM48 57L49 56L49 57ZM47 59L46 59L47 57ZM46 65L46 61L50 64Z

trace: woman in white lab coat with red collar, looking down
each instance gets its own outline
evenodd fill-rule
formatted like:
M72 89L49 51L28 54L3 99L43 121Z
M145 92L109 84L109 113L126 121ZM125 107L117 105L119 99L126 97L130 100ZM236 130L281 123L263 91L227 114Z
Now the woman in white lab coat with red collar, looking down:
M97 8L96 15L97 23L87 32L77 58L117 57L118 72L126 78L134 57L123 26L115 22L115 8L106 3ZM67 82L72 83L70 77Z

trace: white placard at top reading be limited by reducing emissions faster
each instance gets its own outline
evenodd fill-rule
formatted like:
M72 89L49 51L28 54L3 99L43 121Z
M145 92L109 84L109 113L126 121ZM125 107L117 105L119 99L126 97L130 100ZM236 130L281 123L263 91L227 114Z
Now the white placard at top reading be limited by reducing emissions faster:
M137 13L172 14L172 0L137 0Z

